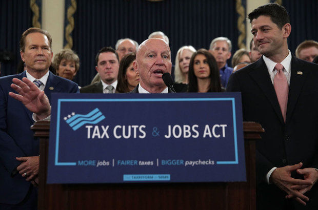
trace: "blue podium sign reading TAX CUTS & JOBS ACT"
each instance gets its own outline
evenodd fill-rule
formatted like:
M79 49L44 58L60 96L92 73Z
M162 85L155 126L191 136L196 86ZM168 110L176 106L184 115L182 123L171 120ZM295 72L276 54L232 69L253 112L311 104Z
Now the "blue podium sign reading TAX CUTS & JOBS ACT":
M240 93L52 94L47 183L246 181Z

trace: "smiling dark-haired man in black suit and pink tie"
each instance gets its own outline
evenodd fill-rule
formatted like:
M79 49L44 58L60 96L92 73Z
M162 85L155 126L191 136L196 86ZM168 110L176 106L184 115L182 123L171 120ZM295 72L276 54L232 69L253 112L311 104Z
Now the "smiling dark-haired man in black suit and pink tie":
M288 50L284 7L267 4L248 18L263 56L233 73L227 91L242 92L244 120L265 129L256 142L257 209L318 209L318 66Z

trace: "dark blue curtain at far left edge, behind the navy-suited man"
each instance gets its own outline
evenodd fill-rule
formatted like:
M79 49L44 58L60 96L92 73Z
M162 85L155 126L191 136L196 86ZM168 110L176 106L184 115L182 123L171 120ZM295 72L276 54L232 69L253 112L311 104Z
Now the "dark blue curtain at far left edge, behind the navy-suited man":
M32 26L30 0L0 0L0 51L12 51L13 59L1 62L1 76L15 74L21 60L19 41L22 33Z

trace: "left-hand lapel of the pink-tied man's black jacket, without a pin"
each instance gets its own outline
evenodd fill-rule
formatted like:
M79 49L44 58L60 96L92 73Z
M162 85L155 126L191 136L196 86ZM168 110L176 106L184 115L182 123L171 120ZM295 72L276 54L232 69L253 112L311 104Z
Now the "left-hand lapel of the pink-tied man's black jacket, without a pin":
M263 57L255 62L253 69L254 71L250 73L251 77L255 80L257 85L259 85L275 110L277 117L284 124L285 122L281 112L280 104Z

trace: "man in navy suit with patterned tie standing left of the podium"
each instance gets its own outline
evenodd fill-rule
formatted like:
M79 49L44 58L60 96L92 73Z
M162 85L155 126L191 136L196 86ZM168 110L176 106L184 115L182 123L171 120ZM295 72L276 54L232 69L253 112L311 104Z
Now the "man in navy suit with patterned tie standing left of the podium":
M21 37L21 57L27 70L0 78L0 209L37 208L39 143L30 130L34 123L32 112L9 97L9 92L17 88L11 85L12 80L26 80L27 77L29 82L34 81L38 86L32 83L36 94L43 95L44 90L48 101L51 93L79 92L76 83L49 72L51 44L52 38L47 31L26 30Z

